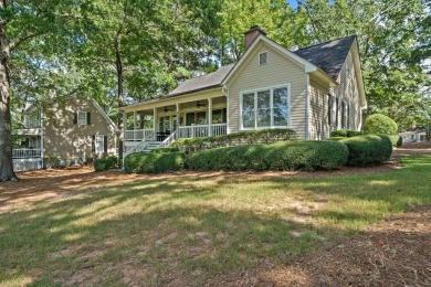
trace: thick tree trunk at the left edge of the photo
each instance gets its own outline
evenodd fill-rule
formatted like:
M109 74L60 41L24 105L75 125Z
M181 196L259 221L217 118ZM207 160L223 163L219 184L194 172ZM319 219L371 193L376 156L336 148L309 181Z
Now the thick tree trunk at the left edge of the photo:
M10 116L10 45L3 21L0 23L0 181L15 181L18 178L13 172Z

